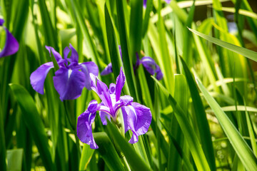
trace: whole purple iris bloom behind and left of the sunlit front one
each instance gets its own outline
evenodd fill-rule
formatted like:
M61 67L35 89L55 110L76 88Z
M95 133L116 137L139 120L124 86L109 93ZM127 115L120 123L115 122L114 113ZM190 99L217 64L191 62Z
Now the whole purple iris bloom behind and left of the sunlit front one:
M99 74L99 69L94 62L79 63L79 55L75 48L69 45L64 48L64 58L50 46L46 46L49 51L54 54L59 69L55 72L54 88L60 95L61 100L73 100L79 98L84 87L91 90L91 77L89 73L96 76ZM71 51L71 57L68 55ZM40 94L44 94L44 81L50 69L54 68L53 62L44 63L31 73L31 86Z

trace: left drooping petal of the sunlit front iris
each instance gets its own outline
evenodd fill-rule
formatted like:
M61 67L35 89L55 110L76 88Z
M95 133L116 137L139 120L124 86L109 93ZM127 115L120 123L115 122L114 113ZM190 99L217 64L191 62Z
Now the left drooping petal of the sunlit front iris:
M91 125L96 118L96 113L90 113L89 110L86 110L84 113L79 115L77 123L77 135L81 142L84 142L90 145L91 149L98 148L92 134Z

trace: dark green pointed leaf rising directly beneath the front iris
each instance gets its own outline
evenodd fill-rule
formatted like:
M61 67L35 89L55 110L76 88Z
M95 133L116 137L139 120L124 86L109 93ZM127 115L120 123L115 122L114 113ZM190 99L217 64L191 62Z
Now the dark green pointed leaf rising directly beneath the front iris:
M132 145L125 140L119 130L109 121L107 124L107 130L114 140L115 145L124 153L126 160L129 162L131 170L151 170L146 162L136 153Z

